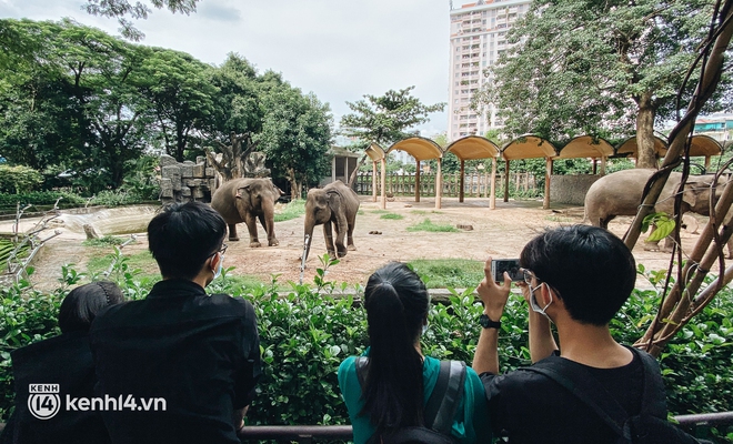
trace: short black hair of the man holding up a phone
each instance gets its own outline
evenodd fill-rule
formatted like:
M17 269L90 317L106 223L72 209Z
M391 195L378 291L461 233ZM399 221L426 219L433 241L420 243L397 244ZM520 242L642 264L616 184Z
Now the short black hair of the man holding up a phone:
M636 261L608 230L569 225L548 230L522 250L520 265L558 293L579 322L608 324L636 283Z

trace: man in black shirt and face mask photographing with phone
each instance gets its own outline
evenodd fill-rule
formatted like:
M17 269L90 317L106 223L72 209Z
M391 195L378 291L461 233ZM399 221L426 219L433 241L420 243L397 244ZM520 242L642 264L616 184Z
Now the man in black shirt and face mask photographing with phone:
M519 286L530 305L530 355L533 363L541 362L532 367L549 369L568 380L579 374L594 380L629 416L637 415L646 357L619 344L609 330L636 280L629 249L606 230L562 226L531 240L522 250L520 265L523 282ZM599 414L546 374L521 369L499 374L498 339L510 285L508 274L501 286L494 282L489 259L478 287L484 313L473 369L484 383L495 432L509 435L510 443L616 442L616 433ZM653 369L661 385L655 362ZM585 396L593 400L601 394ZM654 401L663 403L663 391Z

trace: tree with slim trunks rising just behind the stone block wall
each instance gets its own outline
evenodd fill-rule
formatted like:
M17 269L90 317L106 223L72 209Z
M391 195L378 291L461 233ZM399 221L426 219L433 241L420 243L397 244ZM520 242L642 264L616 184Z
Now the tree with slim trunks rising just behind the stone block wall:
M160 48L149 51L140 67L147 79L142 92L150 101L165 152L182 162L194 133L214 113L218 91L210 82L211 67L184 52Z

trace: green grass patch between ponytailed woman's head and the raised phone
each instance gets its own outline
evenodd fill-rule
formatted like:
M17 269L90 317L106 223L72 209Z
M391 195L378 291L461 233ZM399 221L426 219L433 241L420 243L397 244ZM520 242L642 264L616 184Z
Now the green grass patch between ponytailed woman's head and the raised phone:
M415 260L408 262L429 289L466 289L483 279L483 262L468 259Z

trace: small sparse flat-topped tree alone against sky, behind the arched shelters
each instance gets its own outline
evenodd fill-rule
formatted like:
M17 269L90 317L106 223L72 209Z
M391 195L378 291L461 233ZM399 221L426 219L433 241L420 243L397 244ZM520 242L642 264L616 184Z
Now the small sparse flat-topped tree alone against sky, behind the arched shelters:
M347 102L353 113L341 118L344 134L368 143L376 142L384 148L414 135L408 130L428 122L431 112L445 109L445 103L423 104L420 99L412 97L414 88L389 90L381 97L365 94L366 100Z

